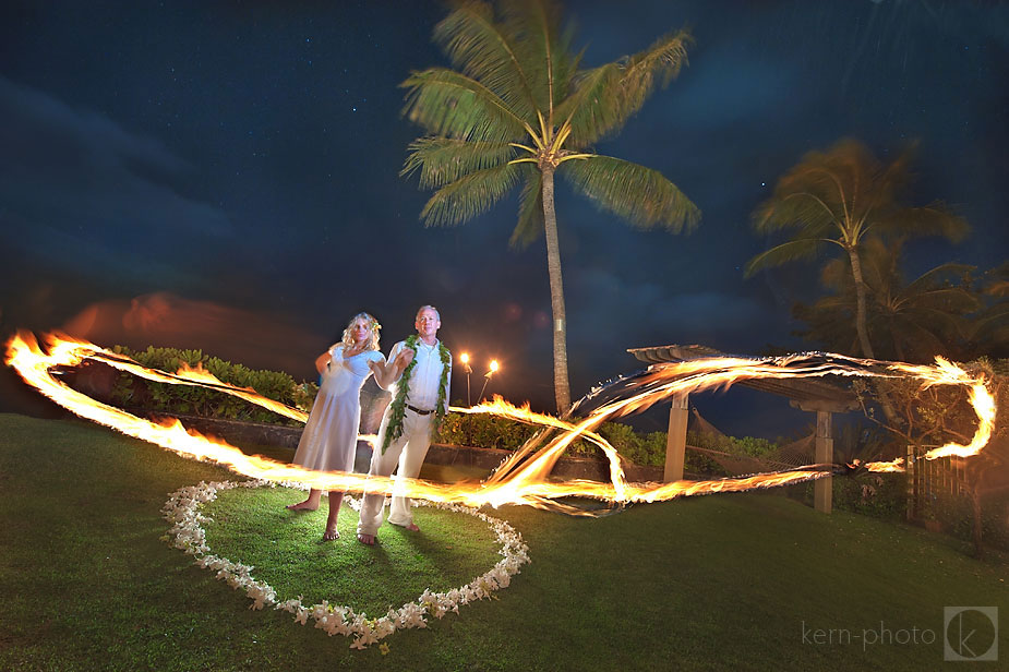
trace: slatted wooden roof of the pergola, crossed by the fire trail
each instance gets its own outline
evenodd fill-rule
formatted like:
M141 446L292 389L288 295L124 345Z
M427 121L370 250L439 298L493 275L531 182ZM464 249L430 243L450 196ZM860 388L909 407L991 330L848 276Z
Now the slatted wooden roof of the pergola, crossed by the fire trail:
M698 345L628 348L627 351L649 364L682 362L707 357L732 357L714 348ZM844 412L858 408L855 394L846 386L830 382L830 377L758 379L740 381L738 384L788 397L792 406L802 410Z

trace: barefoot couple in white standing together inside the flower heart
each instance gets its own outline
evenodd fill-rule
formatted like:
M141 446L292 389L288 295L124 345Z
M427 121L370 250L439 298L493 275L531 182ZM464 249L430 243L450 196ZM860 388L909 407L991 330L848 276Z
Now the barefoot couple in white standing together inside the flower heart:
M452 353L437 339L442 321L437 309L424 305L413 322L417 334L400 340L388 361L379 351L379 322L368 313L355 315L340 343L315 360L323 376L312 412L304 425L293 464L316 471L353 471L361 420L361 387L369 375L393 400L382 416L379 441L372 453L371 476L388 477L396 471L388 521L417 530L411 502L397 493L400 479L417 478L431 445L431 437L448 411ZM312 490L291 511L315 511L322 492ZM343 492L329 492L329 517L324 541L339 538L336 529ZM385 495L365 494L358 521L358 541L373 545L382 525Z

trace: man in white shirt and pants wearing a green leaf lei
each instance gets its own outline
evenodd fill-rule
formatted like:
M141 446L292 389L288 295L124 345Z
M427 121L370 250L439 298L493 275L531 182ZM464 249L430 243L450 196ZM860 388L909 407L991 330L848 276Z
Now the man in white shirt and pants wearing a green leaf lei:
M393 505L388 520L408 530L417 530L410 513L410 500L403 495L405 478L413 479L431 445L431 436L448 412L452 380L452 353L437 339L442 320L437 309L424 305L413 323L417 334L393 346L391 365L375 381L393 393L379 428L379 441L371 457L371 476L391 476L397 464L393 485ZM401 372L401 374L400 374ZM382 525L384 494L365 494L358 521L358 541L373 545Z

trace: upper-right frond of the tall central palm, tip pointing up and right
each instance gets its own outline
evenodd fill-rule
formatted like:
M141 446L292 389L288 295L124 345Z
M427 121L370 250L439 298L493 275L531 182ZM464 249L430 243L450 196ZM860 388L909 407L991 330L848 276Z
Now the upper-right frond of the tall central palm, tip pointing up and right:
M576 75L574 92L557 108L560 120L570 119L574 146L591 145L623 128L657 87L680 74L693 44L687 31L678 31L634 56Z

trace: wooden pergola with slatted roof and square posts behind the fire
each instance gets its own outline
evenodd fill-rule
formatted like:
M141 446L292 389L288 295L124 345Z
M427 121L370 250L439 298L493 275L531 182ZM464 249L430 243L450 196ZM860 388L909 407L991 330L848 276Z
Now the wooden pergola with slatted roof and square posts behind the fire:
M635 358L649 364L675 363L708 357L731 357L706 346L658 346L629 348ZM769 392L789 398L794 408L816 413L815 459L818 464L833 463L832 415L858 408L855 395L828 379L760 379L740 381L738 385ZM689 418L689 395L672 398L669 413L669 434L665 442L666 482L683 479L683 463L686 453L687 420ZM831 509L831 478L821 478L814 483L814 505L817 511L829 514Z

